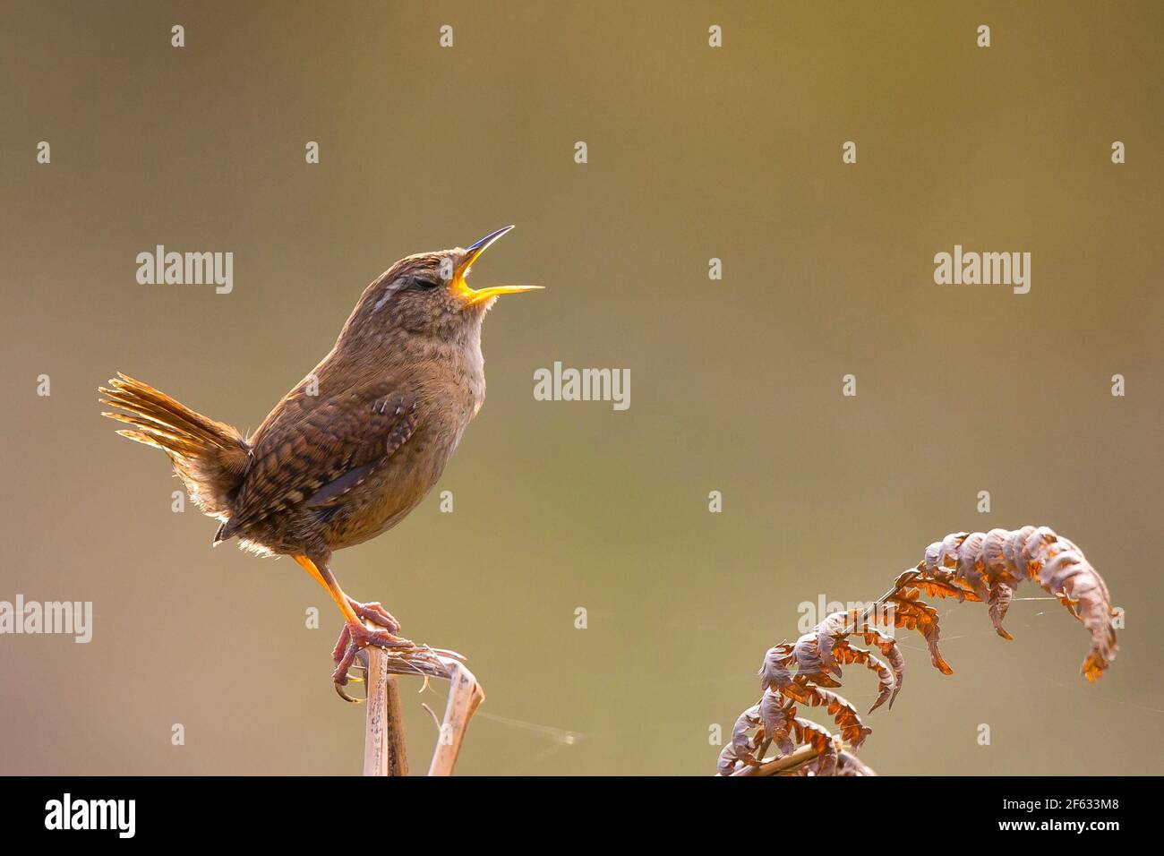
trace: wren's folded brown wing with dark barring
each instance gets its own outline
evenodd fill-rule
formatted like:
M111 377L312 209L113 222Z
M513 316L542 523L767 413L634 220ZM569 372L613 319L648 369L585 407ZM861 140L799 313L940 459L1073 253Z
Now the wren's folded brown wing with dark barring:
M326 508L412 436L417 399L390 381L321 398L296 394L256 438L254 464L218 539L297 505Z

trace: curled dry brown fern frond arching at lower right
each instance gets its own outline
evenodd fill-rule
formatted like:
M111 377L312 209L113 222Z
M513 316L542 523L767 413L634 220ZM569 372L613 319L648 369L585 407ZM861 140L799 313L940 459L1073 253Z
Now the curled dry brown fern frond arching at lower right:
M986 603L995 632L1010 639L1002 620L1015 588L1024 579L1037 581L1087 628L1091 650L1080 671L1088 681L1098 679L1115 659L1112 617L1116 610L1103 579L1083 551L1049 526L947 535L930 544L917 566L901 574L874 606L888 607L894 628L918 631L934 667L952 674L953 668L938 649L937 610L921 596ZM874 611L880 610L832 613L796 642L785 641L768 649L759 672L764 695L736 721L731 743L719 754L719 774L874 774L853 755L872 729L852 705L832 692L840 686L840 667L853 664L878 677L878 696L870 713L885 702L892 708L901 692L904 658L896 641L881 629L888 623L879 627L880 622L871 621ZM852 636L861 637L885 659L851 645ZM799 717L797 703L824 707L840 729L839 740L824 727ZM765 758L773 744L779 755Z

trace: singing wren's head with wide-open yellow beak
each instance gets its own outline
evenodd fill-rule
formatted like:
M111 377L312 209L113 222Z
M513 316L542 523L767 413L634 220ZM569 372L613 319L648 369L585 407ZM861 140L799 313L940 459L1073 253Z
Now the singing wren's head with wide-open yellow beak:
M405 256L364 290L348 326L363 332L400 330L445 340L480 330L485 312L498 297L541 288L469 288L473 263L512 228L499 228L466 248Z

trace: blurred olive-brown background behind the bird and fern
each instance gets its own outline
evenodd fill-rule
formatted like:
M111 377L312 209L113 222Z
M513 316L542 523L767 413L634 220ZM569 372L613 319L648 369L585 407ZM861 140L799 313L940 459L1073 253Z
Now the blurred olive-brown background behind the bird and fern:
M1158 3L38 0L2 16L0 600L92 600L95 628L88 645L0 637L0 772L360 770L324 592L289 559L211 550L213 522L170 510L164 458L113 433L95 387L127 372L253 429L392 261L508 222L476 282L548 290L488 318L489 401L439 486L455 512L434 493L335 558L409 636L469 655L489 698L461 772L710 773L709 726L758 698L802 601L872 599L949 531L1025 523L1074 539L1126 607L1114 667L1079 677L1087 635L1055 603L1015 603L1013 643L956 608L957 673L907 637L906 689L863 757L1158 772ZM156 243L233 252L234 292L136 284ZM935 285L954 243L1031 252L1031 292ZM534 401L555 360L630 368L631 409ZM420 705L441 709L443 687L418 687L423 770ZM873 698L859 672L846 691Z

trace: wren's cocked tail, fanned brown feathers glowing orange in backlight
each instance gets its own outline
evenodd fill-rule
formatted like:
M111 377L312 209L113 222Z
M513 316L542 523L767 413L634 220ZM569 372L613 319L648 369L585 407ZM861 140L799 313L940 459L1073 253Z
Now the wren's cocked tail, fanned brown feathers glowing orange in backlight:
M127 411L101 413L133 426L119 434L170 455L190 498L210 516L229 518L232 497L251 461L241 433L121 373L99 391L102 403Z

